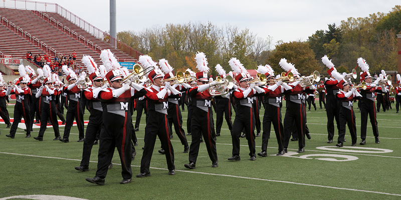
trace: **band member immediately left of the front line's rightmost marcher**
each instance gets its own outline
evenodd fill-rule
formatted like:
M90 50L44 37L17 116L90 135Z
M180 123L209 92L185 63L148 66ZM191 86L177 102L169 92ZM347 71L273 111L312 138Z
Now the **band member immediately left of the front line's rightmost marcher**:
M281 122L281 99L282 93L284 92L284 87L281 86L281 81L275 83L274 80L274 70L270 65L258 67L258 72L266 75L268 79L269 86L265 87L265 114L263 115L263 134L262 134L262 152L259 152L259 156L267 156L267 144L270 138L270 130L273 123L273 128L276 133L277 144L279 146L279 151L276 155L283 155L284 145L284 127Z

